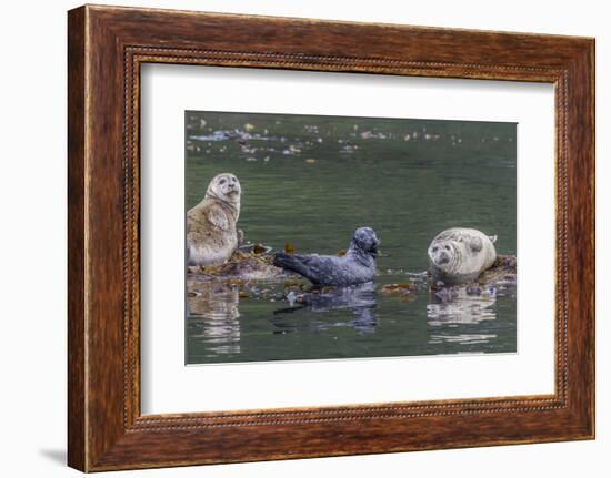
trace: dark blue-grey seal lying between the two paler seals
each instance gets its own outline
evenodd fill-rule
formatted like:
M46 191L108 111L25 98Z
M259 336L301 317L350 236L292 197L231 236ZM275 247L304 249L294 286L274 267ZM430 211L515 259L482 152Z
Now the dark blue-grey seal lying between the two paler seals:
M373 279L380 240L371 227L359 227L345 255L291 255L278 253L273 265L293 271L314 285L353 285Z

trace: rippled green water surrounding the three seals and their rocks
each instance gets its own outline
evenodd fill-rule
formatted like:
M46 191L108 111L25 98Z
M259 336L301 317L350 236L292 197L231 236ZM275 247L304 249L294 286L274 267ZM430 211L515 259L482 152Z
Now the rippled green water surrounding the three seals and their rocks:
M449 227L515 254L515 124L186 112L186 210L232 172L246 241L335 254L365 225L382 241L373 284L309 307L281 282L199 284L188 364L515 352L514 286L441 301L412 275ZM409 299L380 293L407 282Z

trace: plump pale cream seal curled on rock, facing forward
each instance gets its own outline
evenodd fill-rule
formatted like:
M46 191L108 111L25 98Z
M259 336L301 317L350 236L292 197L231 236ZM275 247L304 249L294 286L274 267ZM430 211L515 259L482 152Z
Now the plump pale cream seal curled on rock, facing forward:
M477 281L497 260L495 241L497 236L462 227L438 234L429 246L433 283L459 285Z

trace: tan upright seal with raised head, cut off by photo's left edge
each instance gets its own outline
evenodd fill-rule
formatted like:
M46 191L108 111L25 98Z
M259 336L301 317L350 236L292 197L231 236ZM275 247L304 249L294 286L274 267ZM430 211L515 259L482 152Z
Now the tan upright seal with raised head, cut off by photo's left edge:
M238 248L240 232L240 182L231 173L217 174L203 200L187 212L187 262L189 265L222 264Z

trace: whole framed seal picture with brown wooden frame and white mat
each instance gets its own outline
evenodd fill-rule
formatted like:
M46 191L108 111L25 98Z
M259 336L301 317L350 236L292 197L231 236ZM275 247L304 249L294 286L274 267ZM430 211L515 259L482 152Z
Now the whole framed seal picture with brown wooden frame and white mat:
M69 465L592 439L594 40L69 19Z

